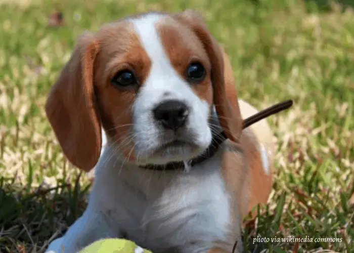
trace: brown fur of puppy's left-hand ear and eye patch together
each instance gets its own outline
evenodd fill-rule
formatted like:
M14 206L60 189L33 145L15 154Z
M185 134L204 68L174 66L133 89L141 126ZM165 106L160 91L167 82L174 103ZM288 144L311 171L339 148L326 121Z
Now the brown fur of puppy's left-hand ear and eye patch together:
M124 19L80 36L46 104L47 116L70 162L84 171L96 165L102 145L100 120L123 154L134 158L129 130L139 85L117 89L111 78L128 69L141 84L150 66L134 27Z

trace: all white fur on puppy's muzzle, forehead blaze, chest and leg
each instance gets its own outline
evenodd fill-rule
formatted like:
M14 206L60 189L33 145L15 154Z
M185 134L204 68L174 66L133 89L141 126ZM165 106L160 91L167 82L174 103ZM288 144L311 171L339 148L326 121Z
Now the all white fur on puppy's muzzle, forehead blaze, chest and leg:
M148 15L132 20L152 60L150 74L133 105L131 131L139 163L188 160L211 141L208 104L172 68L154 26L158 19ZM165 92L169 95L164 96ZM152 116L152 109L165 99L179 99L190 109L186 126L175 135L161 129ZM193 142L195 147L154 153L173 138ZM201 253L212 241L226 240L231 219L239 217L230 217L230 196L220 172L222 148L188 173L142 169L138 163L124 162L118 149L114 141L107 140L85 212L48 250L61 252L63 245L64 252L71 253L100 238L125 236L154 253L168 253L172 248ZM231 252L233 245L227 246Z

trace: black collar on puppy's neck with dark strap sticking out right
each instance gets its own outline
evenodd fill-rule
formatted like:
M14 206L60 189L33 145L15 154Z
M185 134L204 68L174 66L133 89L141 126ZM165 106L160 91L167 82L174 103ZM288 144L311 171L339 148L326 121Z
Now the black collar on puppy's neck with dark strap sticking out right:
M280 111L283 111L285 109L288 109L289 107L292 106L292 100L286 100L283 102L280 102L278 104L275 104L271 107L268 107L267 109L264 109L248 118L243 120L243 125L242 129L247 128L251 124L266 118L270 115L273 115L275 113L278 113ZM188 162L185 161L174 161L174 162L169 162L166 164L147 164L144 166L141 166L142 168L146 168L148 170L156 170L156 171L175 171L175 170L188 170L188 168L193 167L194 165L201 163L202 161L211 158L216 151L219 149L220 145L228 139L226 134L224 132L218 133L218 134L213 134L211 143L205 151L189 160ZM187 164L186 164L187 163Z

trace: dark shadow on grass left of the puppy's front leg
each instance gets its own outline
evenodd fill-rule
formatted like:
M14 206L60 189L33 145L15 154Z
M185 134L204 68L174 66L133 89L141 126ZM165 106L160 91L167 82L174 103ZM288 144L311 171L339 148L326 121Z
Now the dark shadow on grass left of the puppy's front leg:
M63 184L29 191L1 179L0 252L43 252L49 239L64 233L82 214L88 188Z

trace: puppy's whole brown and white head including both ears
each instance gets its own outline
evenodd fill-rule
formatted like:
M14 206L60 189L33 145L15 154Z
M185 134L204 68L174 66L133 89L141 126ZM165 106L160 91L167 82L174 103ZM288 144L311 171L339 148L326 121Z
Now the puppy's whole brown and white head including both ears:
M222 49L198 13L187 10L84 32L46 112L67 158L89 171L100 157L101 127L129 161L164 164L199 155L212 139L213 106L237 142L242 120L237 98L227 98Z

